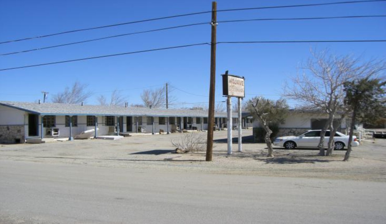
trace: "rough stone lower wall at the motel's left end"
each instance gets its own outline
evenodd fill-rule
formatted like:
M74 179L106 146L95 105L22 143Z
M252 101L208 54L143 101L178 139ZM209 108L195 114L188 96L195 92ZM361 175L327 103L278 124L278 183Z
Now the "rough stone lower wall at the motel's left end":
M0 143L25 143L24 125L0 126Z

